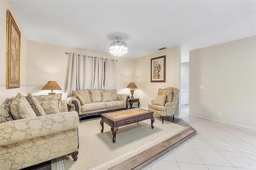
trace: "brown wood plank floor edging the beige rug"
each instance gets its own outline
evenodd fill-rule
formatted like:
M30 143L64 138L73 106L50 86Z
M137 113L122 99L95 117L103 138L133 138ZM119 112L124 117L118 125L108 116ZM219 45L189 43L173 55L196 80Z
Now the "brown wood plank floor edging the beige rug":
M155 117L156 119L160 119L159 116ZM183 119L176 119L172 120L172 117L166 116L164 121L169 121L172 123L176 123L178 125L182 125L184 127L188 127L188 129L180 132L171 138L141 152L140 154L110 168L110 170L141 170L142 168L148 166L161 156L167 154L186 140L190 139L192 136L196 135L196 130L192 128L188 123L186 123ZM79 154L78 154L79 159ZM51 161L46 161L40 164L36 164L33 166L29 166L27 168L23 168L22 170L51 170Z

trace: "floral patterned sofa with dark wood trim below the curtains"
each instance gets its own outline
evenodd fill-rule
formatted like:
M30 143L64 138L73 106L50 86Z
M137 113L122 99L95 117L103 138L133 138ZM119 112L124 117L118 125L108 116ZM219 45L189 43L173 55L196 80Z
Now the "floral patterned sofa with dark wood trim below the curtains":
M76 103L74 102L76 98ZM70 110L78 110L80 118L128 109L130 95L117 94L116 90L77 90L66 101L72 103ZM71 104L70 104L71 105ZM76 106L74 106L76 105Z

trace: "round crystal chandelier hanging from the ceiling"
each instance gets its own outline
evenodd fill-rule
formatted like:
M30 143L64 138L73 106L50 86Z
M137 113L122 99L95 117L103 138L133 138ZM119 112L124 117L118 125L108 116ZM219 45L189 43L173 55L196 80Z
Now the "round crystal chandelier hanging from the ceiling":
M117 36L116 39L116 42L110 43L109 52L116 57L122 57L127 53L127 46L125 42L119 41L121 39L120 36Z

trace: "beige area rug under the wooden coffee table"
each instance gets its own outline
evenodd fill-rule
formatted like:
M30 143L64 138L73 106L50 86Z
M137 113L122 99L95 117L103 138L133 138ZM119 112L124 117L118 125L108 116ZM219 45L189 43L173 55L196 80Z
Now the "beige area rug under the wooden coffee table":
M151 129L148 119L120 127L113 143L106 123L101 133L100 119L82 122L78 127L78 160L67 155L55 158L51 160L52 170L106 170L187 129L167 121L162 124L160 119L155 119L153 125Z

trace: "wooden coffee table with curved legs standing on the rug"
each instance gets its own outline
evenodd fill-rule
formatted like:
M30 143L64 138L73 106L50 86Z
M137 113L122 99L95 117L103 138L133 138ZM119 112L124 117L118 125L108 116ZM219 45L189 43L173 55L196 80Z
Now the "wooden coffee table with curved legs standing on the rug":
M155 121L153 117L154 112L142 110L142 109L129 109L124 111L116 111L111 113L101 114L100 125L103 133L104 123L111 127L113 134L113 143L116 142L116 132L119 127L130 125L132 123L138 123L146 119L151 119L151 128L154 128L153 123Z

